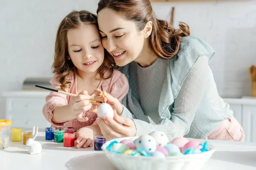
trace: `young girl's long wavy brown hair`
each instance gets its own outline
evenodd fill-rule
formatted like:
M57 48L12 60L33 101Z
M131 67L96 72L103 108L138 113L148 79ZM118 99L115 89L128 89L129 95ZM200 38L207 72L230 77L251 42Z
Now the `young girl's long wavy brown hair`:
M61 21L55 40L55 55L54 62L52 64L53 73L60 74L59 79L61 82L61 90L65 91L66 88L70 88L71 83L67 81L66 77L70 72L77 73L77 68L68 59L67 49L67 31L69 29L78 28L81 24L93 24L98 28L97 16L89 11L72 11ZM99 75L102 79L109 79L113 74L113 65L115 65L113 57L105 51L104 61L99 67ZM104 77L106 71L110 71L111 74L108 77Z

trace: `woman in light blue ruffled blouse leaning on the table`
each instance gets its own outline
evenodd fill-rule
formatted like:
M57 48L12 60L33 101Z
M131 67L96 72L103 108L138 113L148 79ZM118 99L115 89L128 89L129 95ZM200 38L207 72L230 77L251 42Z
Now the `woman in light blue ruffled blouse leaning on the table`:
M169 139L244 140L208 65L215 51L189 36L189 26L175 29L158 20L149 0L100 0L97 14L102 45L130 86L122 105L104 92L117 113L114 119L97 118L106 138L160 130ZM99 89L94 93L102 95Z

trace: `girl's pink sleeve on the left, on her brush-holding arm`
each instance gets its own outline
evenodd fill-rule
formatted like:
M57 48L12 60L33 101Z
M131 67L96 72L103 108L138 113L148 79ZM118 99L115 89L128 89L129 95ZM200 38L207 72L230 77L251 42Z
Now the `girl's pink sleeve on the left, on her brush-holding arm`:
M50 80L50 83L52 84L53 89L61 90L61 83L57 77L58 77L58 74L54 74L52 79ZM66 92L69 92L69 91L70 91L69 89L66 90ZM63 123L52 122L52 117L53 117L52 111L58 105L67 105L68 104L67 95L51 91L50 94L46 96L45 100L46 100L46 103L43 108L44 117L52 125L54 125L56 127L63 127L64 123L66 123L66 122L63 122Z

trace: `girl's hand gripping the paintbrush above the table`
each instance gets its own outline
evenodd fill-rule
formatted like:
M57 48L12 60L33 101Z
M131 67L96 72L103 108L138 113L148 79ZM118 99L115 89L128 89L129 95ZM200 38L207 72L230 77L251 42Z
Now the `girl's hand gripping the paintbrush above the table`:
M70 113L74 114L76 119L78 119L80 122L88 121L87 117L83 117L83 113L90 110L92 107L92 104L87 99L90 99L87 91L82 91L77 96L72 98L69 105Z

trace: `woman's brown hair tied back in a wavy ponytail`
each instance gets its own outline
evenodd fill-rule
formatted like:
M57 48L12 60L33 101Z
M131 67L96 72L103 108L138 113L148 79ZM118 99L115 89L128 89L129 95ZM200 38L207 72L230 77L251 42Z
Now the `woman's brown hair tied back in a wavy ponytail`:
M186 23L180 22L180 28L175 29L166 20L157 19L150 0L100 0L97 14L104 8L112 9L125 20L134 21L139 31L151 21L153 28L148 37L149 45L154 53L163 59L174 57L180 48L182 37L190 34Z

